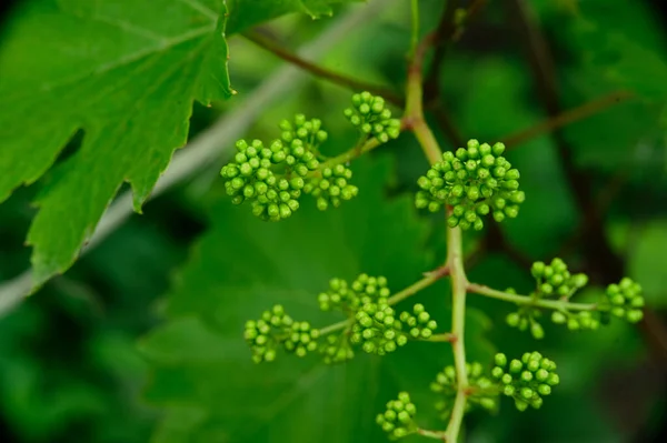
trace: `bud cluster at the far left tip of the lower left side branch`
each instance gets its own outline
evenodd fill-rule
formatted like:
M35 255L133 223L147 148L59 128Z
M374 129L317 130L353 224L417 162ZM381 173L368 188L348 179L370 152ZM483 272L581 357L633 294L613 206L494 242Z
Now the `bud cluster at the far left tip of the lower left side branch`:
M265 311L259 320L246 322L243 338L252 350L252 361L256 363L276 360L280 345L297 356L305 356L317 350L319 331L308 322L296 322L287 315L285 309L277 304L270 311Z

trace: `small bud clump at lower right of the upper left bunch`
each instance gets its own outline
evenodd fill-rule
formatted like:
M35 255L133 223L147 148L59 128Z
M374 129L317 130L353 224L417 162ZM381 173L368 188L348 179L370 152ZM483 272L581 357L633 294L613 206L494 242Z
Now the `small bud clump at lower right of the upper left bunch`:
M352 171L342 164L323 168L321 177L311 178L303 187L303 192L316 198L320 211L329 205L338 208L344 200L351 200L359 193L359 189L349 183L351 178Z

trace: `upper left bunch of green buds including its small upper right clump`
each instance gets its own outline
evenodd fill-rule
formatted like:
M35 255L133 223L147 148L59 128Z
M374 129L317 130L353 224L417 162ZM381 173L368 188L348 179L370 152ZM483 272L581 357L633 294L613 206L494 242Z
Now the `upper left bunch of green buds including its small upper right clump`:
M391 118L381 97L362 92L352 97L352 104L345 114L364 134L380 143L398 137L400 121ZM279 128L280 139L269 145L261 140L236 143L232 161L220 171L232 203L249 203L260 219L279 221L299 209L301 194L311 194L323 211L359 193L350 183L352 171L321 154L319 147L329 138L321 120L296 114Z

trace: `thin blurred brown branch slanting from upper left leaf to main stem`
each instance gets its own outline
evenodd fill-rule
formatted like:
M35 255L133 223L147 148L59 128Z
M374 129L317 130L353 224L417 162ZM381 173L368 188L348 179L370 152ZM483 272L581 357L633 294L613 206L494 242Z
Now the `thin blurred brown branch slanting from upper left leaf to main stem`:
M352 77L341 74L338 72L330 71L310 61L307 61L299 56L295 54L277 44L273 40L261 36L259 32L246 32L243 37L257 44L258 47L266 49L273 56L301 68L302 70L310 72L311 74L319 77L323 80L328 80L335 84L351 89L352 91L368 91L375 95L381 95L388 102L402 108L405 100L396 92L388 88L380 87L377 84L368 83L362 80L357 80Z

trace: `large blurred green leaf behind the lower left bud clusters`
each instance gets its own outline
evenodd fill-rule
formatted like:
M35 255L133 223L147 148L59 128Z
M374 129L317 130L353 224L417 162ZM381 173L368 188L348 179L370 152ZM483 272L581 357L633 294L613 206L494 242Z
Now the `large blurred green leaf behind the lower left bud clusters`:
M361 352L339 366L282 354L256 365L242 340L245 321L275 303L318 326L341 320L317 310L332 276L385 274L397 291L435 265L411 199L385 200L388 162L354 167L360 195L338 210L305 202L291 219L265 223L227 199L215 207L169 294L169 321L141 343L155 368L147 397L167 412L156 443L384 441L374 416L399 389L415 392L429 417L435 399L419 391L450 361L446 343L410 343L382 359ZM415 298L441 320L441 332L449 329L447 283ZM470 359L488 361L486 318L471 312L468 326Z

